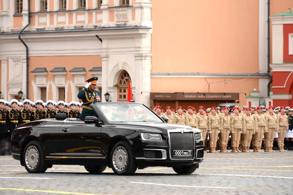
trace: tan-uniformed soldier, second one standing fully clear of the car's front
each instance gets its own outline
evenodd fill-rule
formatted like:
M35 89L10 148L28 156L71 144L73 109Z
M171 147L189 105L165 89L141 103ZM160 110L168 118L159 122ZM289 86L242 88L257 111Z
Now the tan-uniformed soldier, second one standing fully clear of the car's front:
M231 118L229 113L230 108L226 107L224 109L224 112L220 116L220 133L219 133L219 146L220 146L220 152L230 152L227 151L227 145L229 140L229 133L231 130Z

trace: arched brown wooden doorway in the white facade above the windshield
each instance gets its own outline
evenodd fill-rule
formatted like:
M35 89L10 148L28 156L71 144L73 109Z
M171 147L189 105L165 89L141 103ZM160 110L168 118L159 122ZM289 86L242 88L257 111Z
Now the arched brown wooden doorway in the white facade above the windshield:
M126 70L123 70L118 77L117 102L127 101L128 81L131 84L131 78Z

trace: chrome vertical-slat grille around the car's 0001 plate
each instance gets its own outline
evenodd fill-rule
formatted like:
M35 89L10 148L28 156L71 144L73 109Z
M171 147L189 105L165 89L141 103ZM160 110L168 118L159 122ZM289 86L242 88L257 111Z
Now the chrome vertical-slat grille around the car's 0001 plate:
M170 158L172 160L188 160L194 158L194 134L193 132L170 132ZM174 156L174 150L192 150L192 156Z

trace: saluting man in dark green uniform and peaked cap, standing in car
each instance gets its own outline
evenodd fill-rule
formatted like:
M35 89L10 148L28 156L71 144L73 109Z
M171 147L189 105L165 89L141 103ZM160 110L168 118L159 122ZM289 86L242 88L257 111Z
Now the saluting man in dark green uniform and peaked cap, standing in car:
M91 103L101 102L101 93L96 90L96 86L98 84L98 77L92 77L88 79L86 82L86 86L78 93L77 97L82 99L83 101L83 111L80 116L82 120L85 119L86 116L93 116L93 109L89 107Z

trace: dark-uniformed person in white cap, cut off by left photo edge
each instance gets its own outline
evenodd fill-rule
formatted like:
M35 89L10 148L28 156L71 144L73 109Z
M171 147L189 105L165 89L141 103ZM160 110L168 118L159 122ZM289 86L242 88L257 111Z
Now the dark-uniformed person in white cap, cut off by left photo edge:
M5 101L0 100L0 155L5 155L4 141L7 134L7 111L4 110Z

